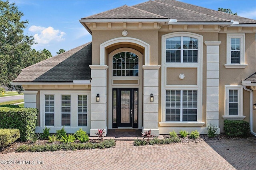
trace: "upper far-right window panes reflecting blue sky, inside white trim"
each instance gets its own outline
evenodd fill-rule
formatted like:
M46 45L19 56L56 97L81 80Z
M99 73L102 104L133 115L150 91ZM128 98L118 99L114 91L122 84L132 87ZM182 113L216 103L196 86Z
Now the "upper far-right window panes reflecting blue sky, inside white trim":
M240 38L231 38L231 64L240 63Z

